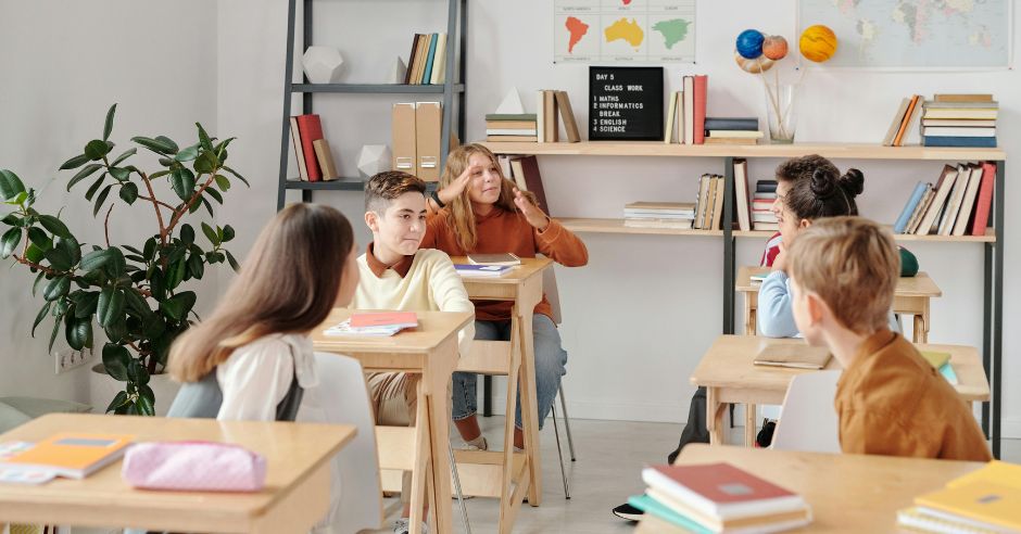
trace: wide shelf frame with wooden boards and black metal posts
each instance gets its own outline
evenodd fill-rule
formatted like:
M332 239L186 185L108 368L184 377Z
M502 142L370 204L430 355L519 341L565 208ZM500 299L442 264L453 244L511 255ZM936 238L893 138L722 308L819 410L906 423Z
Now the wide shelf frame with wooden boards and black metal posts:
M723 165L723 229L693 230L671 228L632 228L623 219L559 218L568 229L579 233L658 234L722 238L723 240L723 317L722 332L734 333L735 264L738 239L766 240L771 231L740 231L734 220L735 158L787 158L819 154L831 160L996 162L993 192L992 225L985 236L894 236L897 241L981 244L984 254L982 365L990 379L991 400L982 405L982 429L992 441L993 456L1000 455L1003 411L1003 309L1004 309L1004 188L1007 153L1003 149L881 147L867 143L795 143L795 144L666 144L661 141L582 141L578 143L483 142L495 154L543 156L629 156L629 157L714 157Z

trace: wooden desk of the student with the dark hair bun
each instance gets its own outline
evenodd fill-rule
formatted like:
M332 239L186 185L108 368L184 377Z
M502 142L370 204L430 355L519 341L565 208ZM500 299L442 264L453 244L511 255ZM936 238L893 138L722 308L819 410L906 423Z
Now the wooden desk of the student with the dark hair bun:
M753 282L752 275L768 274L769 267L740 267L734 281L734 290L744 293L744 325L747 335L755 335L758 292L761 282ZM897 282L894 292L893 310L896 314L915 316L915 343L929 342L929 300L943 296L943 291L925 272L913 277L904 277ZM905 333L905 335L907 335Z

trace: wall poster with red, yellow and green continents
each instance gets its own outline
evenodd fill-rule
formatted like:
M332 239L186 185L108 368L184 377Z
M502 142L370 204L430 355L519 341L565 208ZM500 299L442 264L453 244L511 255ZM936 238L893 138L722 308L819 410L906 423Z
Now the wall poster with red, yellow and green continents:
M554 63L694 63L695 0L555 0Z

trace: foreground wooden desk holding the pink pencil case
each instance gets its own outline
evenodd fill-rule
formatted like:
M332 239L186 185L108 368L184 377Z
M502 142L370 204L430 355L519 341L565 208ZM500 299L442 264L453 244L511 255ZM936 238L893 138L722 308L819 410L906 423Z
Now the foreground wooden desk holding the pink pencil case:
M307 532L326 516L330 458L356 429L290 422L52 414L0 435L38 442L58 432L131 434L136 441L236 443L266 457L266 487L251 494L134 490L121 461L83 480L0 484L0 523L136 527L171 532Z

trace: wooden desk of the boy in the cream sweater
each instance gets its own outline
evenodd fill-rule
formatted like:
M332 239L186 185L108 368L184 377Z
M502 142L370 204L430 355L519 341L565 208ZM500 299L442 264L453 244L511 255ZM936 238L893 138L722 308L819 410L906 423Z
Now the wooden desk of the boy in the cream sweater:
M475 319L469 313L418 312L418 328L392 338L326 336L323 331L354 310L336 308L313 330L316 351L357 358L367 371L420 373L414 432L411 532L418 534L423 505L428 499L431 532L451 532L450 394L448 384L457 365L457 332ZM377 432L377 435L380 435ZM380 450L380 463L383 463ZM403 467L403 465L402 465ZM427 488L428 487L428 492Z

